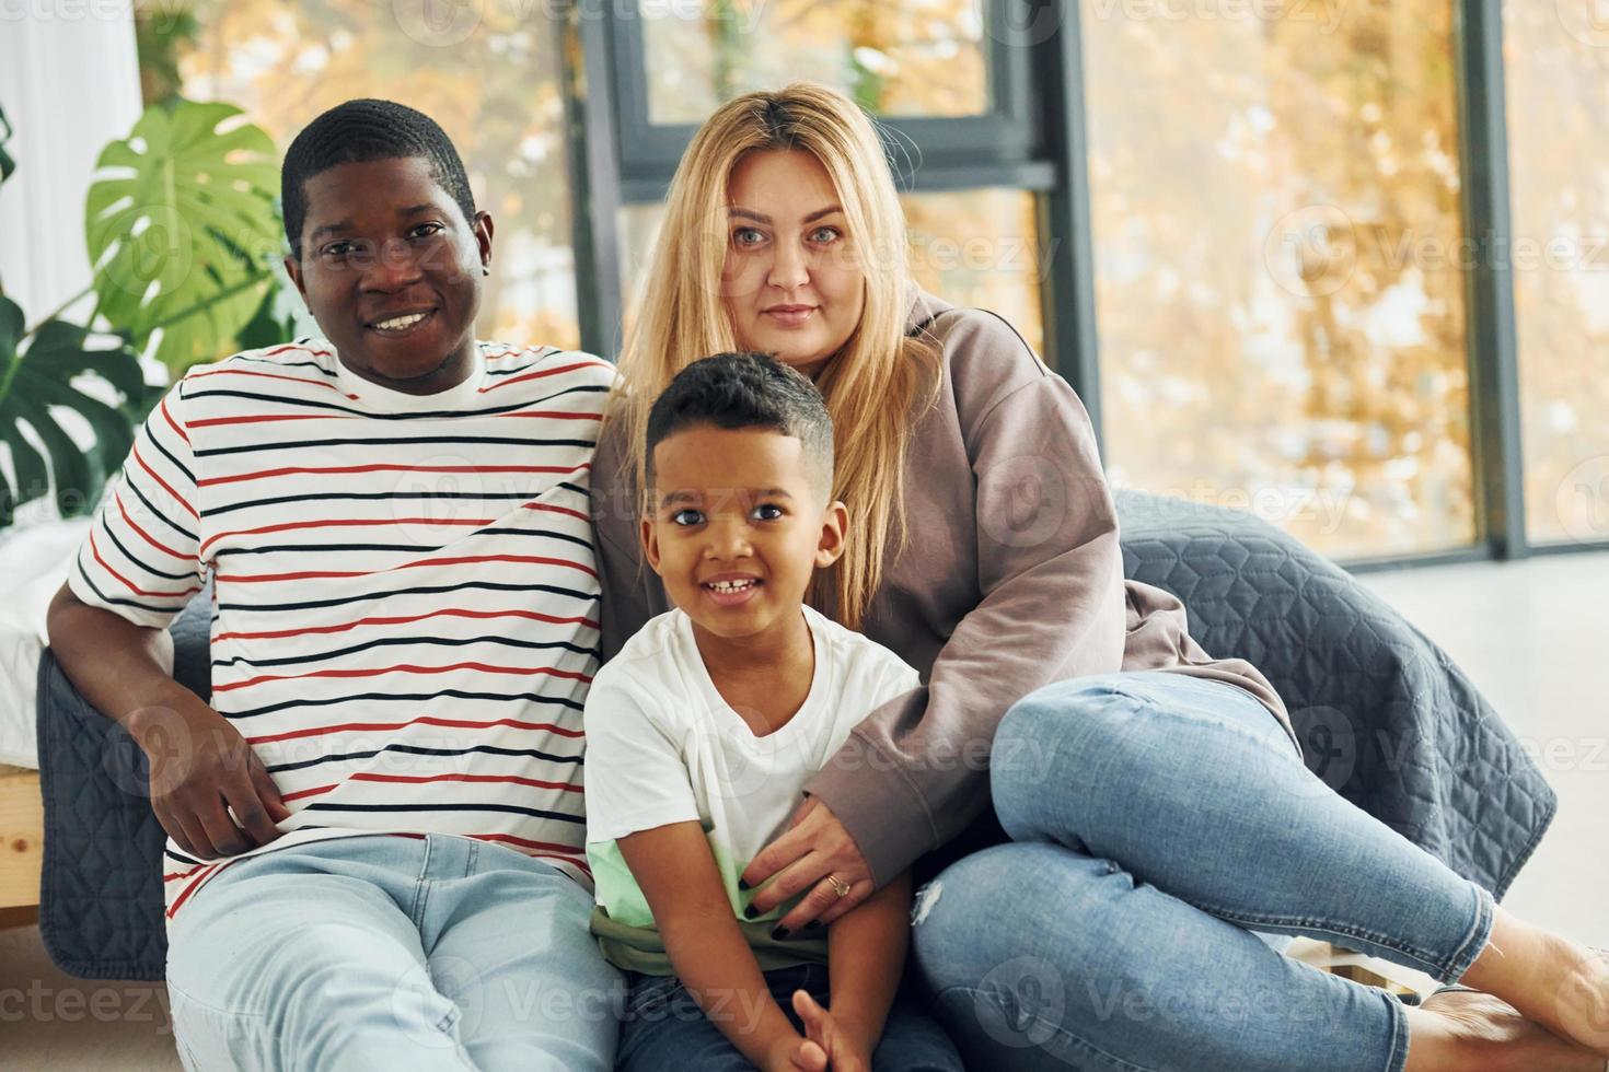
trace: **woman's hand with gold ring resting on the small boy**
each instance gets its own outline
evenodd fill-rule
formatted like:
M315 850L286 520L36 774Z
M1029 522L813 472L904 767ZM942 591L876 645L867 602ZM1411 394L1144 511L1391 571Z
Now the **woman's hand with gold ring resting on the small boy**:
M776 879L766 884L772 876ZM840 897L843 886L835 886L829 876L848 886L848 892ZM750 887L766 884L755 894L756 914L809 890L779 924L788 934L798 934L811 921L830 924L875 889L861 847L832 808L814 797L800 805L788 833L766 845L742 878Z

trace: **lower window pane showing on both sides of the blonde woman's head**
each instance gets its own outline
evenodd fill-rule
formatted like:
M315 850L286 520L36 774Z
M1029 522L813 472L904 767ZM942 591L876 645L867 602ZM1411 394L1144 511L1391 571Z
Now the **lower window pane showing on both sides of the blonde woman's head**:
M953 305L999 313L1030 346L1043 350L1043 259L1035 239L1033 194L967 190L904 194L899 201L909 223L911 268L917 283ZM629 296L639 293L663 217L661 203L621 209L621 284ZM628 305L636 302L628 299Z

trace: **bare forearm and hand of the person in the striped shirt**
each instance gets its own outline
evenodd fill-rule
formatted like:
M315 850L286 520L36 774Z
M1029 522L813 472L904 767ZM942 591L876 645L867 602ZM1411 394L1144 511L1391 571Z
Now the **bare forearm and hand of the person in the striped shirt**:
M280 836L274 823L290 810L274 779L240 731L169 673L167 630L88 606L66 585L45 627L68 680L150 759L151 810L180 849L206 860Z

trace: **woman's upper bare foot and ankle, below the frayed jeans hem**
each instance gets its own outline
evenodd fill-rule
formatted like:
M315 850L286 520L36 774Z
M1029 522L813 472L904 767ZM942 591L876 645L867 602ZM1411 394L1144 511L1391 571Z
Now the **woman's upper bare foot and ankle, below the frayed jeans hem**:
M1487 948L1459 982L1609 1058L1609 961L1591 950L1498 908Z

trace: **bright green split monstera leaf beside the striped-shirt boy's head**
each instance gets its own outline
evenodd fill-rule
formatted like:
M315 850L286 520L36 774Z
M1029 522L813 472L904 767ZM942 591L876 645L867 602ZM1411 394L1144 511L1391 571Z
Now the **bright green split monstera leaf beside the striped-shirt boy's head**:
M280 260L274 141L230 104L140 116L97 161L85 203L100 313L174 371L235 349Z

